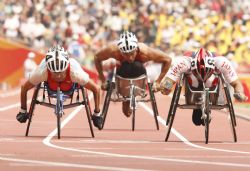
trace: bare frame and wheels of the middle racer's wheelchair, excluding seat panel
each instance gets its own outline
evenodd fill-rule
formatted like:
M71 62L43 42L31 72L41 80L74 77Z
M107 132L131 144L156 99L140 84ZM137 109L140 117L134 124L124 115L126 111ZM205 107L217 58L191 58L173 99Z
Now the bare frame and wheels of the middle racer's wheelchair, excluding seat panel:
M125 88L129 89L129 96L124 97L123 95L121 95L117 92L116 78L123 79L123 80L130 82L129 86L125 87ZM146 97L146 83L145 83L145 89L140 88L140 87L133 84L133 82L138 80L138 78L145 79L144 81L147 82L147 86L148 86L148 90L149 90L149 94L150 94L150 99L144 99ZM135 79L123 78L123 77L120 77L116 74L113 74L112 80L108 81L107 93L105 96L105 101L104 101L103 110L102 110L103 125L102 125L101 129L103 129L105 121L106 121L110 101L113 101L113 102L130 101L130 108L132 109L132 131L135 130L135 110L137 107L136 106L137 102L149 102L149 101L151 101L152 109L154 112L154 119L155 119L156 128L157 128L157 130L159 130L159 123L157 120L157 116L159 116L159 113L158 113L158 108L157 108L157 104L156 104L156 99L155 99L154 93L152 92L152 83L150 83L150 81L146 75L140 76L138 78L135 78ZM118 98L111 97L113 91L116 91L115 93L116 93L116 96ZM141 92L141 95L140 95L141 99L137 98L138 95L136 95L136 94L138 94L138 91Z

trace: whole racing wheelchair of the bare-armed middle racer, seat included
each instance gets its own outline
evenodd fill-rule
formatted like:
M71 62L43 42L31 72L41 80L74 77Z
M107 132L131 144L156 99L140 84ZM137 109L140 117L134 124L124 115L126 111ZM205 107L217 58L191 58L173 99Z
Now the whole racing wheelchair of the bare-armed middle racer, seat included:
M147 90L149 92L149 98L146 98ZM151 102L156 128L159 130L159 123L157 120L159 113L156 99L152 91L152 83L150 83L150 80L146 74L143 74L137 78L123 78L119 75L116 75L116 72L114 71L112 79L108 81L107 93L102 110L103 124L101 129L103 129L106 121L110 101L130 102L130 109L132 110L132 131L135 130L135 111L138 107L138 102Z

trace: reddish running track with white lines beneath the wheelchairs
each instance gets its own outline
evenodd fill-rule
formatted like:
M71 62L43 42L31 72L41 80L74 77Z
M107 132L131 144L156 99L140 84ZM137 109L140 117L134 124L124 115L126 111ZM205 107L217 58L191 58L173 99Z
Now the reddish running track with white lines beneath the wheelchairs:
M9 92L11 93L11 92ZM177 110L172 133L165 142L165 120L170 97L157 94L160 130L156 130L149 103L136 111L135 131L131 118L112 103L102 131L91 138L83 109L65 110L61 139L57 139L53 110L36 106L29 137L26 124L15 116L19 94L0 96L0 170L250 170L250 123L237 118L238 142L234 143L228 115L213 111L209 144L204 129L194 126L191 110ZM92 104L93 106L93 104Z

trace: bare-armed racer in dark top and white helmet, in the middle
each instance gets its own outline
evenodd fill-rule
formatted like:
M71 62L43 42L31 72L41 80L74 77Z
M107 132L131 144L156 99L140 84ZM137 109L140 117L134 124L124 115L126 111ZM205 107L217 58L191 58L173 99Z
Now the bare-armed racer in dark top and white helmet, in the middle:
M107 82L103 74L102 62L110 58L115 59L119 63L116 74L123 78L137 78L146 74L143 64L148 61L161 63L161 73L153 84L153 90L155 91L159 90L160 82L171 64L171 58L165 53L150 48L144 43L139 43L134 33L124 31L120 34L118 41L112 42L95 54L95 65L102 82L101 88L103 90L107 89ZM132 113L129 105L129 101L125 101L122 104L122 111L127 117Z

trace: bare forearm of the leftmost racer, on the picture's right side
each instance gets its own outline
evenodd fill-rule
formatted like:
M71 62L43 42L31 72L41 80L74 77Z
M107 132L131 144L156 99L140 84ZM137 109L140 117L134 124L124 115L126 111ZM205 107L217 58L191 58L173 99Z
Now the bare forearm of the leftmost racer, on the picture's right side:
M89 82L85 84L84 87L93 92L95 101L95 111L100 111L100 87L96 85L92 80L89 80Z

